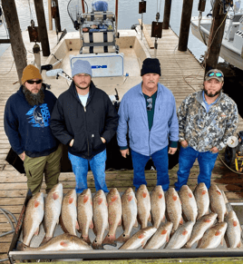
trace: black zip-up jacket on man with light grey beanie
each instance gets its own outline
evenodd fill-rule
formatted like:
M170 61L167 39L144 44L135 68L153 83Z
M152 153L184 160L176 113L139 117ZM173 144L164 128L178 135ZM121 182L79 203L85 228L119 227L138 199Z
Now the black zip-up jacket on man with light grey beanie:
M84 159L105 150L118 126L118 114L109 96L91 83L89 98L85 109L81 103L74 83L62 93L55 103L50 126L53 135L63 144L69 146L74 139L73 147L68 152Z

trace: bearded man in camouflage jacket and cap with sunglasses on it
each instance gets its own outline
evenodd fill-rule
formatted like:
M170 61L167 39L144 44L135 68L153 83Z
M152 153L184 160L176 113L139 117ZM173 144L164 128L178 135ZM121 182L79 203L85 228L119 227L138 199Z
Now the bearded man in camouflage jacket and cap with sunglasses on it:
M219 151L237 130L237 104L222 93L224 75L218 69L205 75L202 91L190 94L178 110L180 156L176 191L187 184L190 169L199 161L198 183L210 187L211 171Z

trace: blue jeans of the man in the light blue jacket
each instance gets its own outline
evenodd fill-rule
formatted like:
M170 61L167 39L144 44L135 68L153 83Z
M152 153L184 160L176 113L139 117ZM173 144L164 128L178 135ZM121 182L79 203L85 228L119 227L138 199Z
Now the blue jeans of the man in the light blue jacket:
M169 189L170 179L168 173L168 146L159 152L151 154L151 157L141 155L140 153L133 152L131 150L131 158L134 174L133 185L135 186L135 191L139 189L141 184L147 185L144 169L150 158L152 159L157 170L157 185L161 185L163 191L167 191Z

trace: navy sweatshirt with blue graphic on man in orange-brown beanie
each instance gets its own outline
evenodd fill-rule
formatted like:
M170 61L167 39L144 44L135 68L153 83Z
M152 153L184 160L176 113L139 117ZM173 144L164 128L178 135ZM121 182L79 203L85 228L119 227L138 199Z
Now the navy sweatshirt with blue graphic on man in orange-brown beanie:
M47 156L57 149L58 142L49 126L56 97L46 90L44 103L31 106L27 103L23 86L11 95L5 105L5 133L13 150L29 157Z

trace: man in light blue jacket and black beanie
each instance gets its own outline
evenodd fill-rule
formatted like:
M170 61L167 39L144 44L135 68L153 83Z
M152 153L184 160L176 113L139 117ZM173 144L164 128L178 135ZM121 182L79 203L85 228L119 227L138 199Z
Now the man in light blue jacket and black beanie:
M157 185L164 191L169 189L168 152L177 151L179 125L175 98L159 83L160 75L160 61L145 59L141 68L142 82L124 94L118 112L118 145L126 158L129 155L128 132L135 190L141 184L147 185L144 168L150 159L157 170Z

